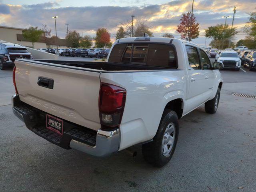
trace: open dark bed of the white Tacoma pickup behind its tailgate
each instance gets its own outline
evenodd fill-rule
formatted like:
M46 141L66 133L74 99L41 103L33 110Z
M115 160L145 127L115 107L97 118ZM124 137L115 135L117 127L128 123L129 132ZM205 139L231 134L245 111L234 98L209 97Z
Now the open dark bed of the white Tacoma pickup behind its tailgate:
M24 59L22 59L24 61ZM134 71L134 70L177 70L173 68L148 66L141 64L126 64L126 63L114 63L114 62L96 62L96 61L70 61L70 60L40 60L40 59L28 59L28 62L52 65L59 64L70 67L80 67L86 69L92 69L94 72L108 72L108 71ZM54 65L56 66L56 65ZM69 67L68 67L69 68Z

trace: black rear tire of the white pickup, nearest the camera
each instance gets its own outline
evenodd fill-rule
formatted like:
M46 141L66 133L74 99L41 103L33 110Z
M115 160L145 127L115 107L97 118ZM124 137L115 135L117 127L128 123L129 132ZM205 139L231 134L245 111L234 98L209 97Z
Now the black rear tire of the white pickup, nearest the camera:
M166 134L166 129L170 124L174 128L174 131L170 133L170 136L173 136L174 139L172 140L172 145L170 145L167 153L164 155L162 142L164 135ZM173 110L165 109L153 141L142 145L142 155L146 162L157 167L162 167L167 164L174 153L178 135L178 115Z

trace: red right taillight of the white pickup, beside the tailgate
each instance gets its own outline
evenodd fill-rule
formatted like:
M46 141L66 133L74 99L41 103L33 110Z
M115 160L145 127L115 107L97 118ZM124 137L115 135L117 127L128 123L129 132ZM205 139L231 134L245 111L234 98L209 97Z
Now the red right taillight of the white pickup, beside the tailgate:
M99 112L100 124L112 129L121 123L126 100L124 88L102 83L100 86Z

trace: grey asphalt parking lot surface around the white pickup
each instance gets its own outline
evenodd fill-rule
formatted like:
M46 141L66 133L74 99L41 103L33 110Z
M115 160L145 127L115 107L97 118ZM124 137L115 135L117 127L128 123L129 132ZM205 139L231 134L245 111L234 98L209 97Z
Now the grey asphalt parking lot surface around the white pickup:
M140 146L130 149L136 157L95 158L40 138L14 116L12 69L0 70L0 191L255 192L256 99L232 94L256 95L256 70L242 69L221 71L216 114L200 106L180 120L176 151L163 168L146 164Z

